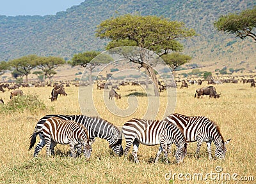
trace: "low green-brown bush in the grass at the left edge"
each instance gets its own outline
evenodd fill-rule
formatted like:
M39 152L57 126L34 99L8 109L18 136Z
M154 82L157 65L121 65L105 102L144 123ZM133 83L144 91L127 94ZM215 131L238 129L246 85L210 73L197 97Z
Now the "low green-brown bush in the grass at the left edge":
M35 113L38 110L45 110L46 106L43 101L38 99L36 94L26 94L24 96L16 96L13 99L1 106L1 113L13 113L30 111Z

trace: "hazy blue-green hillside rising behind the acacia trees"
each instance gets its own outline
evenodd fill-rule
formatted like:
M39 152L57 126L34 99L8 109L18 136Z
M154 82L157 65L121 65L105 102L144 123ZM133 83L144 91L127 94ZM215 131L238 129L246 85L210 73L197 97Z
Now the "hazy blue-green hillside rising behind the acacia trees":
M182 40L184 53L199 67L234 67L255 69L252 39L216 31L213 22L227 13L239 12L256 5L253 0L218 1L99 1L87 0L66 11L47 16L0 16L0 60L23 55L56 55L68 60L74 53L104 50L107 40L95 38L96 26L102 20L125 13L157 15L179 20L199 34ZM116 13L118 12L118 13Z

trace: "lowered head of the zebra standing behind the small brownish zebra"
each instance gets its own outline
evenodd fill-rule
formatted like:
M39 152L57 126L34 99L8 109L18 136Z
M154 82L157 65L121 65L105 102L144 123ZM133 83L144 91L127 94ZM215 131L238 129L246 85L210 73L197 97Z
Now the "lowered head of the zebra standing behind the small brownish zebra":
M124 155L122 147L122 131L119 131L117 128L112 129L112 139L109 141L109 148L111 148L113 152L120 157Z

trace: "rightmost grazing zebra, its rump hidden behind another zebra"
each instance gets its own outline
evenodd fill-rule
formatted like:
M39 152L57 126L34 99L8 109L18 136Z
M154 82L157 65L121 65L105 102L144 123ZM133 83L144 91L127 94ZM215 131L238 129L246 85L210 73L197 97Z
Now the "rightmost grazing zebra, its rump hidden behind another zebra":
M183 132L187 142L195 142L196 156L198 156L203 142L207 144L207 152L209 159L211 155L211 143L213 141L216 146L215 156L219 159L225 159L227 148L225 145L229 143L230 139L224 142L220 133L220 127L215 122L212 122L207 117L188 117L180 114L173 114L166 117L164 120L169 121L179 127ZM170 148L169 148L170 149Z

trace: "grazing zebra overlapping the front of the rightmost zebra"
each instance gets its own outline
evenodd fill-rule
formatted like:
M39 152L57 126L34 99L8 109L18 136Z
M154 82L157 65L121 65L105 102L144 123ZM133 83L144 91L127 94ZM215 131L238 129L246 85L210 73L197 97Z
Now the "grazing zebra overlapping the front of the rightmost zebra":
M160 144L156 163L162 151L166 159L165 162L168 163L167 145L172 145L172 143L177 146L175 153L177 163L182 162L187 153L187 143L182 132L177 126L164 120L131 119L124 124L123 134L126 140L124 155L127 156L131 145L133 145L132 155L136 163L140 162L137 157L140 143L148 146Z

